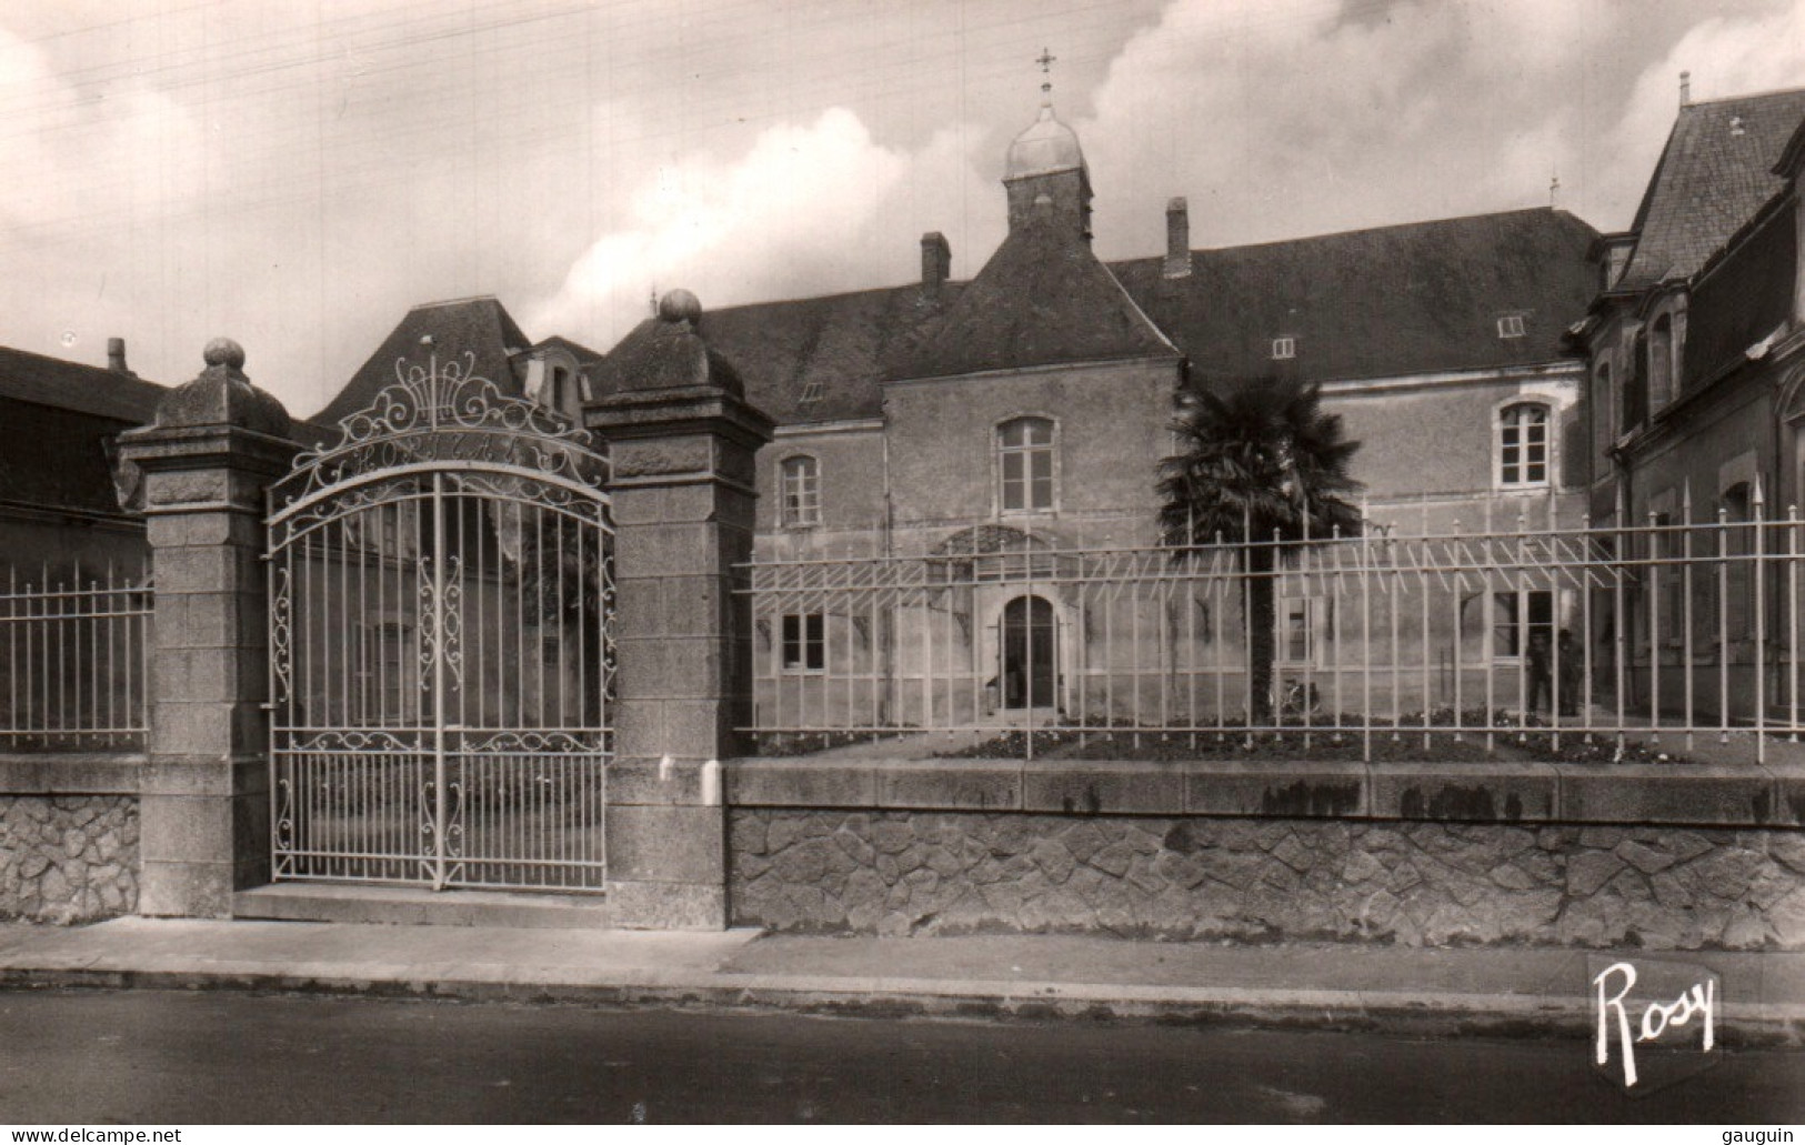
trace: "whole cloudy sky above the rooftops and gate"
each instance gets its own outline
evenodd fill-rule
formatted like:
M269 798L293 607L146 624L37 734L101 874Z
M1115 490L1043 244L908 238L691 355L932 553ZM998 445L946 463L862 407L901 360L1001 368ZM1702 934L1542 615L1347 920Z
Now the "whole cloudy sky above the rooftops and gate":
M408 307L612 347L953 275L1052 101L1105 258L1547 206L1630 224L1679 105L1805 85L1805 0L7 0L0 345L309 415ZM1550 191L1550 181L1558 190Z

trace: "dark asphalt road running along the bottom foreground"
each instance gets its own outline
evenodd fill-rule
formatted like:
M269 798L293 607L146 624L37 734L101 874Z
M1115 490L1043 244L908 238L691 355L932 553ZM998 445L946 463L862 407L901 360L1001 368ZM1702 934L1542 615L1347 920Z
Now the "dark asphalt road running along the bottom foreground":
M1576 1040L0 993L0 1123L1805 1120L1805 1051L1632 1100Z

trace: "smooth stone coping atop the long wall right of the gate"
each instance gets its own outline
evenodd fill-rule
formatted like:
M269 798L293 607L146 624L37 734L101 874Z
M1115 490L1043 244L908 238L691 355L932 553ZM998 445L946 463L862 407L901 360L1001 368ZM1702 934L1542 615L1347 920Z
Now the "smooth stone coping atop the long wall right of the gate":
M1805 768L1258 760L740 759L729 807L1805 825Z

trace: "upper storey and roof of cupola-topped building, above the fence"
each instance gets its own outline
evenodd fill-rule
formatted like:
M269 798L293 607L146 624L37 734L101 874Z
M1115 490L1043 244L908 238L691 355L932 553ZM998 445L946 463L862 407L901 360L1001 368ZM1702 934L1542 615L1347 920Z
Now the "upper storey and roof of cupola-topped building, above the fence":
M1090 168L1051 107L1004 190L1009 233L969 282L930 233L919 282L702 312L780 426L765 553L926 551L978 526L1146 542L1188 377L1321 383L1393 527L1578 518L1583 368L1563 334L1601 285L1585 222L1543 208L1191 249L1175 199L1166 251L1103 262ZM588 370L596 394L634 376L655 325Z

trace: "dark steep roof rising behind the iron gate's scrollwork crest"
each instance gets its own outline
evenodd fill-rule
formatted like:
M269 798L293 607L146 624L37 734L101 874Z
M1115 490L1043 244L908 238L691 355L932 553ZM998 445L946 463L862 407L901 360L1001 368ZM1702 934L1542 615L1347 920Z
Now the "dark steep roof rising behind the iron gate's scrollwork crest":
M421 341L430 338L430 343ZM504 394L522 394L513 356L532 345L514 320L495 298L458 298L417 305L390 330L375 354L370 354L345 388L314 414L309 423L318 430L334 430L343 417L368 406L377 394L395 385L395 363L424 367L437 352L475 356L473 372L493 381ZM572 343L574 345L574 343ZM305 432L305 426L296 426Z

